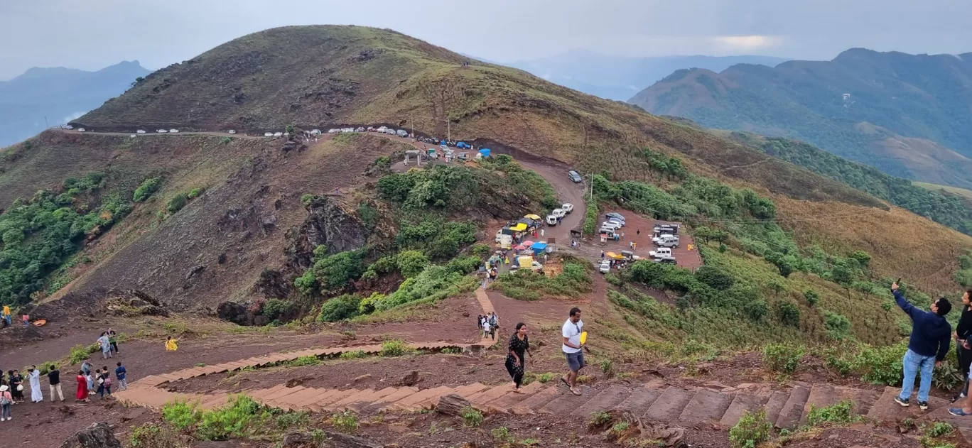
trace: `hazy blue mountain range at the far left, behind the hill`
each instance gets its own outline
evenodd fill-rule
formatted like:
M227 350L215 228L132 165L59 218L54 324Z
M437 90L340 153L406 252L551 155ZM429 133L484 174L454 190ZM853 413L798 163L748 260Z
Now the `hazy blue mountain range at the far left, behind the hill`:
M151 73L137 60L87 72L64 67L34 67L0 82L0 148L66 123L120 95L138 77Z

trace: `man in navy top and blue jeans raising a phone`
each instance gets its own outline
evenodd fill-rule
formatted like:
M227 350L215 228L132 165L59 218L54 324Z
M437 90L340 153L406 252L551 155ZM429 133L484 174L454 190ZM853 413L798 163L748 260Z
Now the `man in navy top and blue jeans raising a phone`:
M894 401L902 406L909 406L912 390L915 388L915 376L921 372L921 382L918 390L918 405L921 410L928 408L928 393L931 391L931 374L935 365L945 360L949 353L949 343L952 341L952 325L945 320L945 315L952 311L952 303L941 297L931 303L931 311L920 310L905 299L898 289L898 283L891 284L894 301L911 317L912 333L908 339L908 351L902 361L904 380L901 384L901 394L894 397Z

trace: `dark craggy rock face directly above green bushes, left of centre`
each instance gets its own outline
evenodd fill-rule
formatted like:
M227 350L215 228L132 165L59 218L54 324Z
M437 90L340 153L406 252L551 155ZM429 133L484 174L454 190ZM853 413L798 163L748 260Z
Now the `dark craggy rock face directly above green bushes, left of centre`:
M290 267L303 270L310 267L314 248L326 246L328 254L353 251L364 247L364 223L349 215L330 197L315 197L307 204L307 219L287 248Z

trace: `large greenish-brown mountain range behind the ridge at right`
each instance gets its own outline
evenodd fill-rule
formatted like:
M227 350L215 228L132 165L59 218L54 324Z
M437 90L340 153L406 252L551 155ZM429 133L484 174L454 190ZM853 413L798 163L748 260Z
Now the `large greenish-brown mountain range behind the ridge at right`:
M683 69L629 102L708 127L803 140L894 176L972 187L972 53L852 49L775 68Z

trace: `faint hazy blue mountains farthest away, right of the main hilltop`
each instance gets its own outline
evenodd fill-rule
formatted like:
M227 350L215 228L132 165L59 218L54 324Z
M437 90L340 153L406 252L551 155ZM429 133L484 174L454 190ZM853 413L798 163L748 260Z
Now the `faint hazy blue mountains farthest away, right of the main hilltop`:
M680 68L721 71L732 65L775 66L787 59L771 56L652 56L625 57L571 51L539 59L502 63L540 78L602 98L626 101L645 86ZM485 61L488 62L488 61Z

